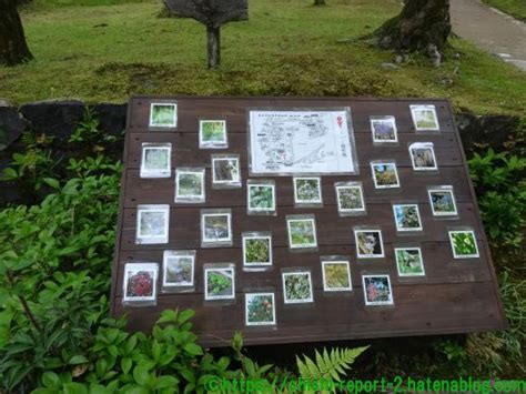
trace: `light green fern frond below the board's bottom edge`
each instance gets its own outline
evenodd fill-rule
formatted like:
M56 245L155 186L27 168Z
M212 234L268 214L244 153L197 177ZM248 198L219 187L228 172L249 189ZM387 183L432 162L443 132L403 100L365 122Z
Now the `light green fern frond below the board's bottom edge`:
M318 381L321 378L340 382L346 375L346 371L352 368L354 361L365 352L368 346L356 348L334 347L331 353L324 347L323 353L316 351L316 362L303 355L304 360L296 356L297 370L305 381Z

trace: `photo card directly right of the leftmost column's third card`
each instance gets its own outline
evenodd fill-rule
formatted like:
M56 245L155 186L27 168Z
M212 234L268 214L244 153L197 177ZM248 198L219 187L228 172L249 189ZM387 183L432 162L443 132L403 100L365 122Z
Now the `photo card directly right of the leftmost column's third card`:
M232 213L226 210L201 211L202 245L225 245L232 243Z

